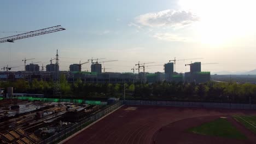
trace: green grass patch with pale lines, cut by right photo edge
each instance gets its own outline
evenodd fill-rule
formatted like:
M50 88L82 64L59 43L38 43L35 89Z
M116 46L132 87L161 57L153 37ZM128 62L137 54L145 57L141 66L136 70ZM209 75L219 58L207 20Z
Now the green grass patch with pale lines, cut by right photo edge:
M233 116L236 121L242 123L247 129L256 134L256 116ZM254 127L253 127L254 125Z

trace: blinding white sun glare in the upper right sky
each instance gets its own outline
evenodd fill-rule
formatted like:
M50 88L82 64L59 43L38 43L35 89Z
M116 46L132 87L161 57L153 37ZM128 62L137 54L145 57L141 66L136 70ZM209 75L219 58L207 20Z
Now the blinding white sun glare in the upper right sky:
M254 0L180 0L179 5L199 17L193 31L201 43L223 45L255 31Z

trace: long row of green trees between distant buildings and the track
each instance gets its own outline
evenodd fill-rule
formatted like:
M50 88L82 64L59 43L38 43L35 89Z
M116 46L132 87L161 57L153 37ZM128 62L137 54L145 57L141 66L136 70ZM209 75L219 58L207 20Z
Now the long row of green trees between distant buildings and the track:
M14 87L14 93L44 94L46 97L59 95L69 97L118 97L150 100L178 101L211 101L224 103L256 103L256 85L251 83L84 83L77 80L68 83L65 75L60 76L60 82L18 80L15 82L0 82L0 87Z

